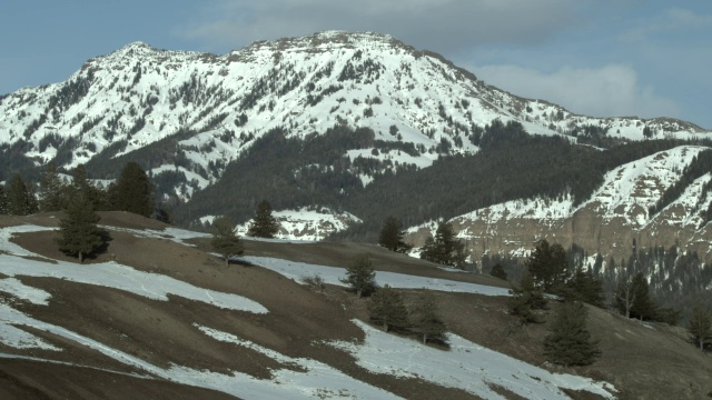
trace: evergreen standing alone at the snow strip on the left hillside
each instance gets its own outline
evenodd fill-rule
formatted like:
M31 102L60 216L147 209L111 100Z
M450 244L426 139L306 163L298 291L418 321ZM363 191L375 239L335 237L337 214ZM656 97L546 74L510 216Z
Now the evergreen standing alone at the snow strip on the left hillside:
M76 197L68 204L65 218L59 221L59 237L56 239L59 250L70 256L77 256L81 263L86 256L90 256L103 244L102 231L91 202L81 196Z

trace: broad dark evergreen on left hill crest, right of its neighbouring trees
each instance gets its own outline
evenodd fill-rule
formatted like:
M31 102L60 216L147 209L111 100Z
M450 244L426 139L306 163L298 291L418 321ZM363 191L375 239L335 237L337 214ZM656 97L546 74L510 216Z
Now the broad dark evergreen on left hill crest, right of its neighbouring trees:
M111 191L116 210L150 217L154 211L152 186L141 166L128 162Z

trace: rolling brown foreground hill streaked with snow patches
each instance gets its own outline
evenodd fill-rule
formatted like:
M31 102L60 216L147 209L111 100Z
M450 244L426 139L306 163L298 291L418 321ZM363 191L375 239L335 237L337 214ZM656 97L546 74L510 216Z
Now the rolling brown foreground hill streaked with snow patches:
M517 327L506 283L488 276L370 244L284 240L246 241L246 257L226 268L205 233L101 216L111 240L85 264L56 250L59 216L0 217L3 397L693 399L712 390L709 354L680 328L591 308L602 356L564 369L544 362L545 324ZM434 293L448 347L365 323L367 300L336 280L364 252L406 302ZM301 284L309 274L326 287Z

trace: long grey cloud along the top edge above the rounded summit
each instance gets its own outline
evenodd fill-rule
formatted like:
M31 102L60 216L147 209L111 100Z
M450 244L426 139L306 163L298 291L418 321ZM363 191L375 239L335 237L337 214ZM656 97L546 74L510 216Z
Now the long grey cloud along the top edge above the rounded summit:
M218 0L188 27L190 39L241 47L323 30L389 33L438 52L477 43L536 43L576 23L565 0Z

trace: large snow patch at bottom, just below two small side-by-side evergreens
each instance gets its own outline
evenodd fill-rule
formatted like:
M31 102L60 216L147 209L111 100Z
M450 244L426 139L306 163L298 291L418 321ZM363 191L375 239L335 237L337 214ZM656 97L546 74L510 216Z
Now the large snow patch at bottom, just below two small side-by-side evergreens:
M447 333L451 349L443 351L385 333L358 320L354 323L366 333L364 343L342 341L332 346L350 352L360 367L375 373L421 378L483 399L506 399L493 391L490 384L501 386L531 400L568 399L560 388L585 390L605 399L615 398L609 391L615 389L606 382L552 373L453 333Z

